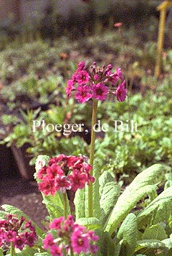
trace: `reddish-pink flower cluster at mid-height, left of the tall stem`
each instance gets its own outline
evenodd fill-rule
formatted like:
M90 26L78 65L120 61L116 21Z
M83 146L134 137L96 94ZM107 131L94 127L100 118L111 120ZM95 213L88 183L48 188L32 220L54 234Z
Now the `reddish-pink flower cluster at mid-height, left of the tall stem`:
M74 155L59 155L49 160L48 166L42 166L37 173L40 180L38 186L45 196L52 196L61 191L77 191L82 189L85 184L93 183L95 178L90 175L92 166L87 163L87 157Z

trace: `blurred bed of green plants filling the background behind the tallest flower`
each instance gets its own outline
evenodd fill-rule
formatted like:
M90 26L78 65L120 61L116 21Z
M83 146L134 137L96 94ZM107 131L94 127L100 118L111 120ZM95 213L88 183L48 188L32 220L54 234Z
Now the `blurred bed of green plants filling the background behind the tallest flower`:
M166 29L161 76L158 81L153 76L158 3L108 1L105 5L105 1L78 1L78 8L69 4L64 16L62 9L57 8L57 1L49 1L40 17L33 13L32 24L19 19L13 22L12 17L6 25L2 24L1 144L9 147L27 144L32 165L40 154L88 155L91 106L68 101L65 86L78 62L96 61L122 68L129 91L128 101L123 104L109 99L100 105L98 118L110 126L105 134L97 134L100 170L108 165L120 180L121 175L128 174L132 179L153 163L172 165L171 23ZM29 21L27 17L26 20ZM115 22L123 23L120 32L114 27ZM32 132L33 119L45 119L54 125L84 123L89 133L86 136L82 131L67 137L41 129ZM133 119L138 122L138 132L115 133L115 119Z

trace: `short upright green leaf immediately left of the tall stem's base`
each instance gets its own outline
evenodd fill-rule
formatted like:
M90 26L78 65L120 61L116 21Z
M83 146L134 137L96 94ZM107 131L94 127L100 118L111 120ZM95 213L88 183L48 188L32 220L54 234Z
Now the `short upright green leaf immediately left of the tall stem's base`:
M85 188L78 189L75 193L75 216L76 220L85 217Z

